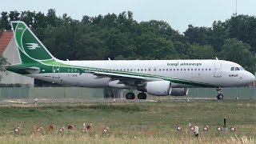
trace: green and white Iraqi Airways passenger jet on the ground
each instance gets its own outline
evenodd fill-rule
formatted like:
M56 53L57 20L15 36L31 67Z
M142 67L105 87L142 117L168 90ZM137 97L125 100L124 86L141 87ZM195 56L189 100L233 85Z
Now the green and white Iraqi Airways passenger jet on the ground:
M54 58L25 22L11 22L20 63L6 70L61 85L129 90L126 99L185 96L190 87L245 86L254 74L225 60L101 60L63 61Z

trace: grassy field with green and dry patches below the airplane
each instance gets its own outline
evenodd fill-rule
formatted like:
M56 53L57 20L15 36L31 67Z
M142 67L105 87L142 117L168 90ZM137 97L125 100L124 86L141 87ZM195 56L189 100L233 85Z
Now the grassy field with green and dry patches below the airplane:
M227 133L216 130L223 118ZM93 124L87 134L80 131L83 123ZM199 127L199 138L194 138L189 123ZM48 130L50 125L55 130ZM67 130L69 125L74 130ZM208 133L202 130L206 125ZM106 126L109 133L102 132ZM236 132L230 132L231 126ZM15 127L20 127L18 133ZM61 127L63 133L58 132ZM255 100L0 105L0 143L256 143L254 138Z

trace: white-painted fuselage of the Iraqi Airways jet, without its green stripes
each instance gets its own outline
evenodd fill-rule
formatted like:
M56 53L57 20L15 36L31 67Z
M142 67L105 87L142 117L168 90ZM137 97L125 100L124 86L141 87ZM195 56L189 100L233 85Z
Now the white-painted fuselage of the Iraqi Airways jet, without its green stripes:
M87 66L104 70L118 70L130 73L152 74L179 78L214 86L244 86L254 79L246 70L230 70L242 67L234 62L222 60L120 60L120 61L62 61L70 66ZM60 67L61 69L61 67ZM29 74L30 77L62 85L105 88L111 81L91 73L79 74L70 68L69 73ZM172 87L198 87L172 82Z

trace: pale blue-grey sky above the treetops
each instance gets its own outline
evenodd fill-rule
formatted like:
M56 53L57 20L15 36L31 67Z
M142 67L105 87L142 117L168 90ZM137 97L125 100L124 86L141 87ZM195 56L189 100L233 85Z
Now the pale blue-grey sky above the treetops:
M238 14L256 15L256 0L237 0ZM119 14L130 10L138 22L162 20L174 30L184 32L188 25L211 26L236 13L236 0L0 0L0 12L18 10L41 11L53 8L58 16L68 14L81 20L83 15Z

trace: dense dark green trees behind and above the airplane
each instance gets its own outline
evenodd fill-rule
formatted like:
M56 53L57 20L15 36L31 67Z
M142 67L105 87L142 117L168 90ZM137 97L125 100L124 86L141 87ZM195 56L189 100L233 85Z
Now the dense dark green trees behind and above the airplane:
M138 22L131 11L99 14L81 20L68 14L57 16L35 11L3 11L0 29L10 30L10 21L26 22L30 29L59 59L218 59L238 62L255 71L256 18L232 15L212 26L189 25L185 32L169 23Z

